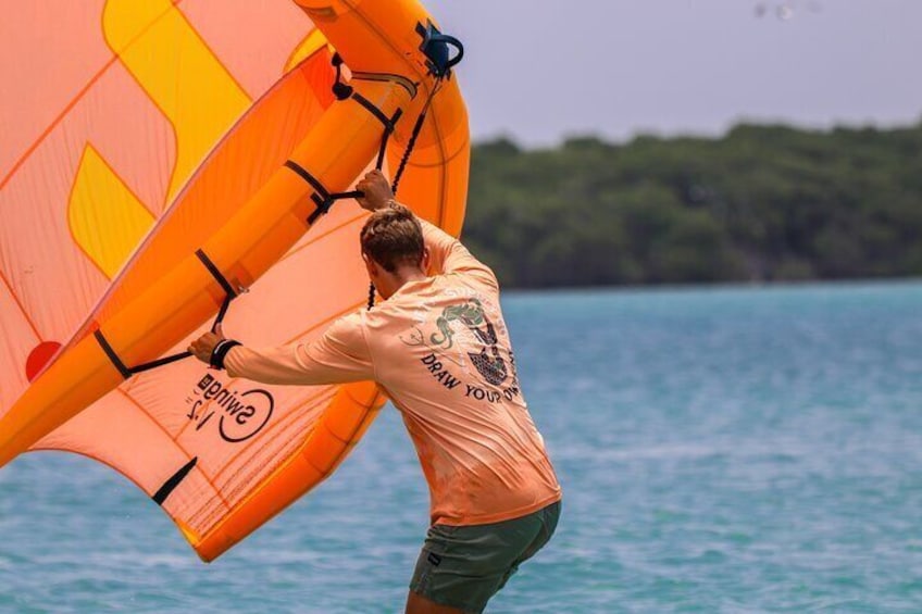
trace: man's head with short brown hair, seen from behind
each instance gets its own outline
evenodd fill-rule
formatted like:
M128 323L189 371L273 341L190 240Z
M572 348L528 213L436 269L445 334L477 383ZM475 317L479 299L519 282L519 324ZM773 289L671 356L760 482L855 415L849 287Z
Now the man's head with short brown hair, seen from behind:
M423 229L402 204L372 213L362 227L361 241L369 277L385 299L408 280L425 276L428 251Z

